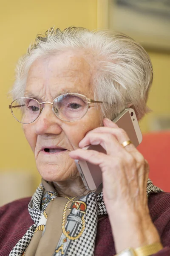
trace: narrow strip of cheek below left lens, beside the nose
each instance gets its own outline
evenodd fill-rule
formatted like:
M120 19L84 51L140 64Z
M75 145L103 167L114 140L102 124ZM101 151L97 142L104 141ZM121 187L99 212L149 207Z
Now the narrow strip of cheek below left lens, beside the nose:
M31 146L32 151L35 151L36 141L37 141L37 135L35 134L33 128L31 125L23 125L23 131L26 137L26 140L28 141L29 145Z

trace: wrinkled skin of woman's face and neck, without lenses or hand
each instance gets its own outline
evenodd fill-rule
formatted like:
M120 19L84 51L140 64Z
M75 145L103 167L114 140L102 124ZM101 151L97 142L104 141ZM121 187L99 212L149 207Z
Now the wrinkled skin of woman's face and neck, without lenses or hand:
M31 93L39 102L53 102L59 93L67 92L81 93L94 99L91 84L94 69L82 55L74 52L38 59L29 70L26 93ZM23 125L40 175L45 180L57 182L55 186L59 185L57 190L60 195L87 194L69 152L78 148L88 131L101 125L101 111L95 104L76 122L60 120L52 111L52 105L46 104L35 122ZM50 146L67 150L59 154L43 154L41 148Z

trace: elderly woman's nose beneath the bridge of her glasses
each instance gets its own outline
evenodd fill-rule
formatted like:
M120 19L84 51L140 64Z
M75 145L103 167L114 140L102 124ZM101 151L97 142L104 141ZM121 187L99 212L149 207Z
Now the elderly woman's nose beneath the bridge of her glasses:
M41 106L42 107L42 106ZM60 134L62 132L62 120L52 111L52 105L44 105L40 116L35 121L35 132L37 135Z

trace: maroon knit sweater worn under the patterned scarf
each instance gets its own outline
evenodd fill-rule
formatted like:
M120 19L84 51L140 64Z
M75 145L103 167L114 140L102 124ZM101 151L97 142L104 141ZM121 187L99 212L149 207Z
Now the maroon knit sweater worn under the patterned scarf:
M0 256L8 256L14 245L34 224L24 198L0 208ZM170 256L170 193L151 194L148 201L150 216L156 226L164 249L154 256ZM115 255L114 241L108 216L98 222L94 256Z

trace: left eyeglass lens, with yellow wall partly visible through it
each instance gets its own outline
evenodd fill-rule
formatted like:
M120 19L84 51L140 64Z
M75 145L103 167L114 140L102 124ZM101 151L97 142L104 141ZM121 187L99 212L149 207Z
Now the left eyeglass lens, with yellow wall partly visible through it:
M11 111L19 122L28 124L37 119L40 114L40 106L35 99L20 98L12 102Z

